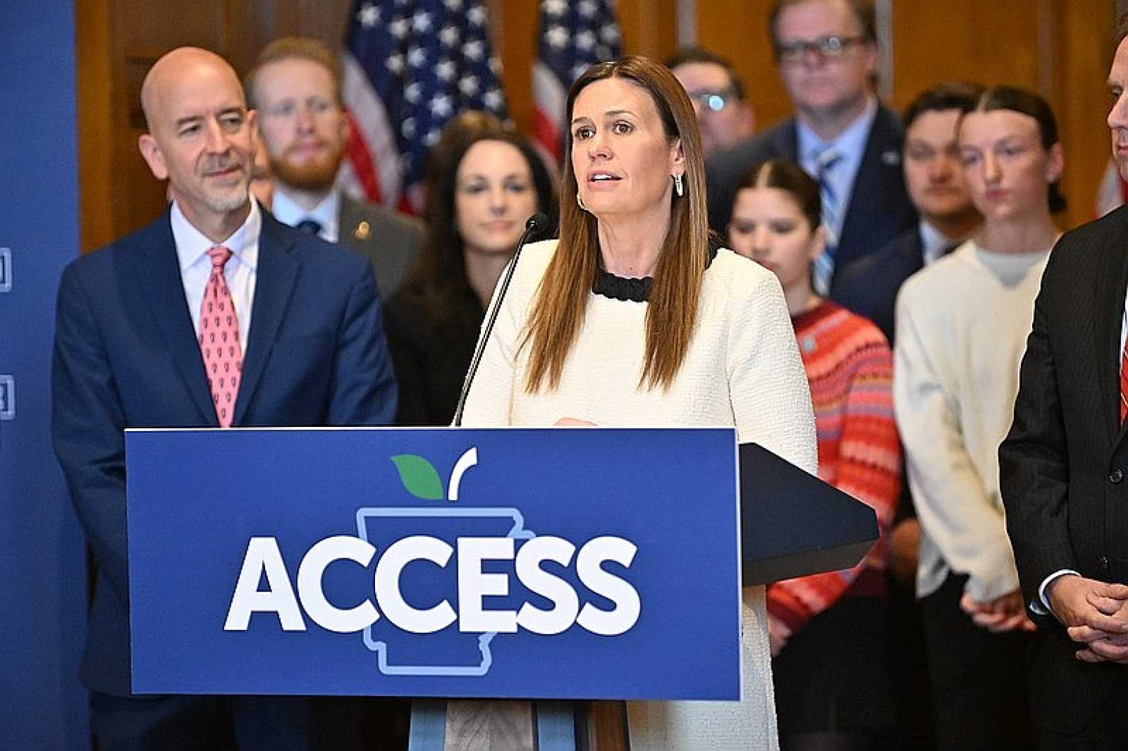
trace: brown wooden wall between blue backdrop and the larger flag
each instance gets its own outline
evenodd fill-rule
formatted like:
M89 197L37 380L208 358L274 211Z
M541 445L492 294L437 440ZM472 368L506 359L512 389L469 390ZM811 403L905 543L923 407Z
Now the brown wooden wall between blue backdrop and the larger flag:
M83 251L156 218L165 187L138 151L141 82L169 50L214 50L244 74L271 39L305 34L338 46L350 0L77 0L79 171Z

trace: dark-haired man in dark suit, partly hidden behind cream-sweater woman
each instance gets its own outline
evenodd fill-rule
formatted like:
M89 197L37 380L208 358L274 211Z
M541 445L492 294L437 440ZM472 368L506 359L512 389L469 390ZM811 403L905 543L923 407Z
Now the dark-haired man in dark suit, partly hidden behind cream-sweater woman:
M893 307L901 284L971 235L982 217L963 183L957 127L975 109L982 87L937 83L905 109L905 184L920 215L876 253L844 268L835 281L835 300L865 316L893 343Z

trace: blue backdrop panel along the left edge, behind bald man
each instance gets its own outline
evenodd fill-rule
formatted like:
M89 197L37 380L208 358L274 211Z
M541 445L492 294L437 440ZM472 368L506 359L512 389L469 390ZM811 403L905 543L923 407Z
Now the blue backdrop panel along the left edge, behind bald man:
M83 544L51 450L54 297L78 255L74 20L0 3L0 739L89 745Z

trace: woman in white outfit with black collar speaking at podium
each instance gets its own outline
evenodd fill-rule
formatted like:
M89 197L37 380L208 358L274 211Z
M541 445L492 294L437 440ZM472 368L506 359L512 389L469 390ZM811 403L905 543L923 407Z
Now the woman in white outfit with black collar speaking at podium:
M772 272L710 242L693 105L646 58L569 91L558 240L528 246L466 425L734 425L816 471L814 418ZM775 749L764 587L743 591L740 703L637 701L631 748Z

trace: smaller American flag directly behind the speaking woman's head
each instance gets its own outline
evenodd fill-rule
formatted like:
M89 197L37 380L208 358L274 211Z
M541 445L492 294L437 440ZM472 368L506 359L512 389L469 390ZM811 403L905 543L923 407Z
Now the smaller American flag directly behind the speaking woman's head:
M614 0L541 0L532 64L532 140L554 164L563 158L569 88L592 64L620 54Z

